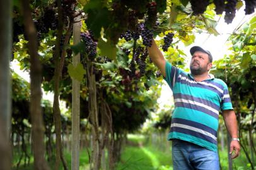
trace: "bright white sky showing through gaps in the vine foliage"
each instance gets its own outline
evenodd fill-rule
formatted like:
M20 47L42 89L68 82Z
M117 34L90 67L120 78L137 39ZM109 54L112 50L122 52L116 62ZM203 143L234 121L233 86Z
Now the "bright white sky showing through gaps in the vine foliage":
M243 6L244 7L244 6ZM213 60L218 60L221 58L224 58L225 54L228 54L227 46L225 45L226 41L228 40L228 37L230 37L231 33L241 25L241 23L244 23L248 21L250 18L252 18L254 14L245 15L244 9L240 8L240 10L236 11L236 16L231 24L226 24L224 22L224 15L221 16L218 25L216 26L216 30L220 35L214 36L207 33L196 33L195 34L195 42L192 45L189 45L185 47L183 43L178 44L179 48L182 49L185 54L187 54L187 62L190 61L190 48L198 45L202 48L205 48L206 50L209 50L212 54ZM218 16L219 17L219 16ZM23 72L20 70L20 66L17 60L14 60L11 62L11 68L14 69L14 71L19 74L21 77L23 77L26 81L30 82L30 75L28 72ZM161 96L158 99L158 103L160 106L160 109L168 109L168 105L172 105L173 98L172 98L172 91L168 87L165 81L163 81L163 85L161 88ZM43 98L49 99L50 101L53 100L53 94L52 93L45 93L43 91ZM166 107L167 106L167 107Z

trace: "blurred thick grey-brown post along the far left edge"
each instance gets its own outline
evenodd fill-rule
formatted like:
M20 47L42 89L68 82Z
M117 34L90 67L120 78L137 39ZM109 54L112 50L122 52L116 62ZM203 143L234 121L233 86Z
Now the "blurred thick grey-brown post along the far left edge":
M11 169L11 148L9 133L11 128L11 13L12 1L0 1L0 169Z

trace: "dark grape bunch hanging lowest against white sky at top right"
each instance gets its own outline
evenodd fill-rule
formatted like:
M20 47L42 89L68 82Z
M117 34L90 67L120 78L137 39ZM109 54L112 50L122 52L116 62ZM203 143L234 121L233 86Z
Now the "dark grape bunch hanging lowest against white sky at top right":
M226 23L231 23L236 15L236 3L237 0L230 0L225 6L225 16L224 20Z

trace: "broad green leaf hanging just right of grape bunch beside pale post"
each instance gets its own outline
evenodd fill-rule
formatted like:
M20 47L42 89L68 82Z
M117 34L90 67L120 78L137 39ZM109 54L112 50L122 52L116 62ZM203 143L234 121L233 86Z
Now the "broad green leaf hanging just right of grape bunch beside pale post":
M109 59L116 60L117 47L108 40L105 42L100 38L98 40L98 48L100 48L101 55L107 56Z

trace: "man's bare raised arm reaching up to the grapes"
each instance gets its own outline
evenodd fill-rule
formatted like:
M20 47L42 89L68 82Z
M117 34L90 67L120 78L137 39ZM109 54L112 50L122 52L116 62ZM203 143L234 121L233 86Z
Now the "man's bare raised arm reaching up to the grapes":
M163 54L161 53L160 49L156 45L156 42L152 40L152 46L148 47L148 53L149 57L153 61L154 65L160 69L161 74L165 77L165 58L163 57Z

